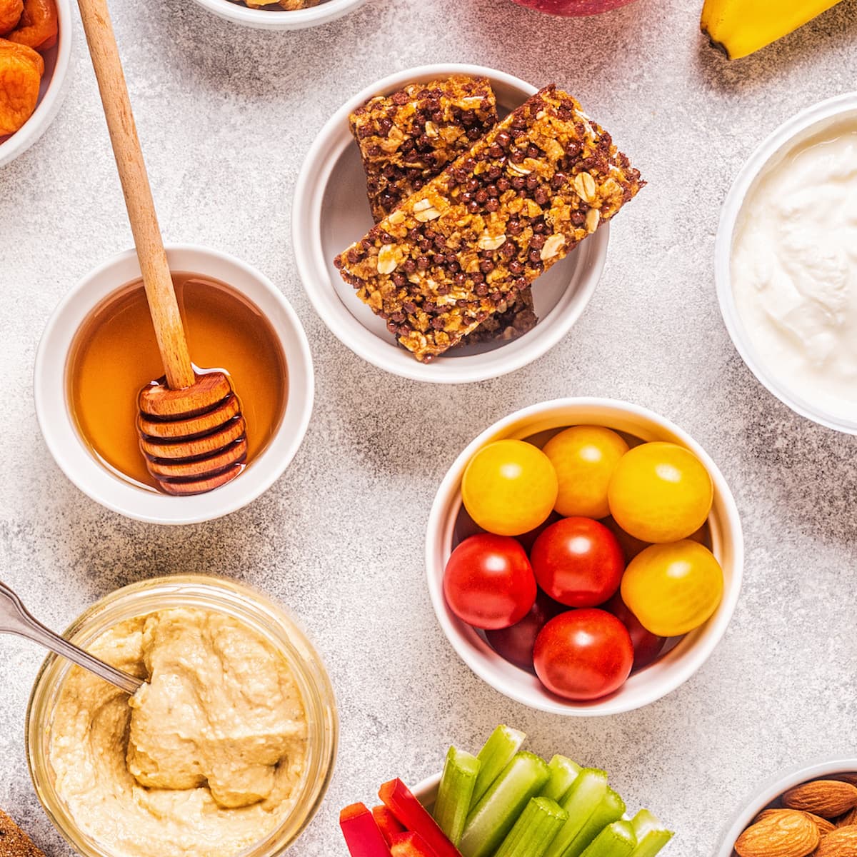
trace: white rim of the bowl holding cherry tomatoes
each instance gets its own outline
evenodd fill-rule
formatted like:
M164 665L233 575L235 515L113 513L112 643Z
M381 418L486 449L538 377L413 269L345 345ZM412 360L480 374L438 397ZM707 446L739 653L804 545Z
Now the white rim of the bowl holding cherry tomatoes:
M730 545L734 551L732 585L728 590L724 590L722 602L717 608L716 614L711 617L705 624L707 633L704 639L700 640L695 650L692 650L686 656L685 662L680 669L677 669L670 681L665 681L659 685L651 686L647 692L639 691L636 698L624 698L621 690L613 696L607 698L604 702L595 700L594 702L578 705L570 700L560 700L559 698L543 697L533 698L527 693L518 692L517 690L508 687L500 686L494 680L486 675L481 668L480 663L475 657L471 656L470 647L459 637L456 628L453 626L452 620L446 614L446 608L443 597L442 586L442 571L440 574L435 572L434 566L434 549L439 534L443 531L444 522L446 521L445 508L452 498L458 492L458 483L461 479L461 474L464 472L464 465L470 461L470 458L478 449L494 438L505 436L506 429L514 423L519 423L526 419L538 417L548 411L555 411L561 408L598 408L609 411L614 411L620 415L631 415L641 417L644 420L656 423L660 428L674 434L680 438L682 444L687 446L705 465L709 471L712 481L715 486L715 495L721 498L725 509L726 524L724 530L731 536ZM569 423L572 425L573 423ZM635 405L631 402L622 401L620 399L604 399L600 397L570 397L566 399L551 399L546 402L540 402L536 405L530 405L514 411L507 417L503 417L496 423L492 423L488 428L478 434L474 440L470 441L468 446L458 455L458 458L446 471L446 476L440 482L440 487L435 494L432 502L431 512L428 516L428 527L426 530L426 573L428 578L428 595L434 608L434 614L440 624L446 639L456 650L458 656L467 664L470 669L479 676L486 684L494 687L494 690L502 693L504 696L513 699L515 702L524 704L529 708L547 711L551 714L560 714L563 716L605 716L612 714L621 714L625 711L636 710L649 705L656 700L673 692L676 688L683 685L692 674L696 673L706 662L711 653L716 649L717 644L726 632L729 622L732 620L735 607L738 604L740 596L741 579L744 569L744 537L741 529L740 516L738 507L735 505L734 497L728 487L726 479L722 475L720 469L710 458L702 446L694 440L683 428L680 428L666 417L662 417L655 411ZM498 657L500 657L498 655Z

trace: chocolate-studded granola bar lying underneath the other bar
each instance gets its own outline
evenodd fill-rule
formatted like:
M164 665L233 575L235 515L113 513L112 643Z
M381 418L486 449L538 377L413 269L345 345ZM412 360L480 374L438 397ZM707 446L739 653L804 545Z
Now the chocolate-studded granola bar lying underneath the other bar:
M452 75L375 96L351 113L348 123L378 223L494 128L497 102L488 78ZM515 339L536 321L532 293L524 289L476 327L467 342Z

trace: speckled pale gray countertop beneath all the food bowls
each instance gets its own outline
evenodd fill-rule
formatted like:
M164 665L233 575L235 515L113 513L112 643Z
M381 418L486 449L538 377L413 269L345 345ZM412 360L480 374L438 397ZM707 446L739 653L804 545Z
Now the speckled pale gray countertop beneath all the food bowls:
M369 0L301 33L231 26L190 0L113 0L120 48L168 241L261 268L297 309L315 359L309 434L260 500L170 530L88 500L33 411L36 345L75 281L131 245L81 28L69 95L26 155L0 170L0 577L63 628L117 586L170 572L240 578L309 628L339 696L327 801L293 848L345 854L339 807L475 749L496 722L605 767L629 804L678 830L674 857L712 854L755 784L806 759L854 755L857 438L795 416L758 385L717 309L713 247L729 183L757 142L854 87L857 0L729 64L698 33L699 0L638 0L560 21L511 0ZM576 93L648 180L614 221L607 267L572 333L498 381L440 388L363 363L315 315L290 246L291 195L316 132L397 69L482 63ZM630 399L693 434L722 468L746 536L726 638L692 680L629 714L565 719L494 692L458 660L428 602L423 530L459 450L523 405ZM33 794L24 713L43 658L0 638L0 806L66 855Z

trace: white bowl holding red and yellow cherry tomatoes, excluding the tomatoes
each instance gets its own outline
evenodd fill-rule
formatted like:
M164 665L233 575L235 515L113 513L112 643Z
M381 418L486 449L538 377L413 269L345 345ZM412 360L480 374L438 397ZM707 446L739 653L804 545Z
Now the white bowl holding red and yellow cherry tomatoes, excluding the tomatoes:
M443 572L452 553L456 518L461 509L461 477L470 458L482 446L501 438L524 439L572 425L602 425L642 440L670 440L685 446L705 465L714 482L714 505L709 526L712 551L723 569L723 597L716 613L649 667L638 670L609 696L592 702L572 702L549 692L536 678L498 655L475 628L459 620L446 606ZM544 442L545 438L542 440ZM744 540L735 501L716 464L704 449L674 423L639 405L614 399L555 399L516 411L486 428L473 440L440 483L428 518L426 536L428 592L440 627L462 660L482 680L530 708L570 716L619 714L641 708L683 684L708 659L732 619L744 567Z

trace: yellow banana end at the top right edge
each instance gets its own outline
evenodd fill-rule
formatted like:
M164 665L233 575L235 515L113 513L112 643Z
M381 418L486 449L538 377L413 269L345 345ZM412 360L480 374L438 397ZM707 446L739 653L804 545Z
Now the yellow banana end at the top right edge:
M729 59L776 42L840 0L705 0L700 27Z

